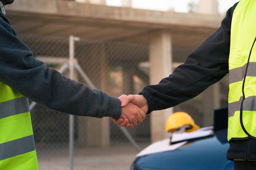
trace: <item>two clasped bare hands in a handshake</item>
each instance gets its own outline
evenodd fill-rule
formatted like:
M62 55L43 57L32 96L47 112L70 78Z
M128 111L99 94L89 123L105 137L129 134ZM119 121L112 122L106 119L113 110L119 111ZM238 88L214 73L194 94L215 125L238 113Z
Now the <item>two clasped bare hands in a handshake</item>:
M115 124L127 129L138 126L146 118L148 102L143 95L121 95L122 113L119 118L110 118Z

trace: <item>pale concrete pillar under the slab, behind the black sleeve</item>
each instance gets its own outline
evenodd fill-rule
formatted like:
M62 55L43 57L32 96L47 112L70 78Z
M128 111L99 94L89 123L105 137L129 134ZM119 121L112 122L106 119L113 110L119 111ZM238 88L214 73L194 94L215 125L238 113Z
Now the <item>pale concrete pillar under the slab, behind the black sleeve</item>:
M172 73L172 42L169 31L159 31L150 40L150 84L159 81ZM151 142L168 137L165 132L166 119L173 113L172 108L150 113Z

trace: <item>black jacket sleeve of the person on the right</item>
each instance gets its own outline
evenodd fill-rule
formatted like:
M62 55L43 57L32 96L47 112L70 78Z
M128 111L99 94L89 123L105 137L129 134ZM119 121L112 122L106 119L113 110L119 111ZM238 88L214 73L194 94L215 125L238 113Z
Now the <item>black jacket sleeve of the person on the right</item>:
M231 18L234 7L227 11L220 28L205 40L157 85L144 87L139 93L148 100L149 110L170 108L189 100L228 73Z

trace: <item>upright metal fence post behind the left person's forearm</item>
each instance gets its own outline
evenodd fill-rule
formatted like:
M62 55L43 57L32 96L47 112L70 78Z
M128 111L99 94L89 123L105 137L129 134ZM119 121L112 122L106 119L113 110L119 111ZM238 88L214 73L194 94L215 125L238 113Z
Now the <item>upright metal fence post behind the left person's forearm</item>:
M70 35L70 79L74 79L74 41L78 41L78 37ZM74 115L69 117L69 154L70 154L70 170L74 169Z

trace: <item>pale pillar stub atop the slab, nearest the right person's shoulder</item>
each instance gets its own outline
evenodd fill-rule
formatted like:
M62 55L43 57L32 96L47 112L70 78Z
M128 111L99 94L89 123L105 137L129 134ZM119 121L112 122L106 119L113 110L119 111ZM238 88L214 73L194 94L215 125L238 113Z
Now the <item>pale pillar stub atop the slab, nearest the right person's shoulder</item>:
M200 0L198 4L198 13L218 15L217 0Z

